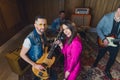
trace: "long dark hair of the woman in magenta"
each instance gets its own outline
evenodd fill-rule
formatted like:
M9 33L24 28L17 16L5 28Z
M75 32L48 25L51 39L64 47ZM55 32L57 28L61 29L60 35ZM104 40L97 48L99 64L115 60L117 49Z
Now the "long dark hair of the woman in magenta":
M72 35L70 36L69 40L68 40L68 44L70 44L72 42L72 40L74 39L74 37L77 35L77 30L76 27L73 25L73 23L70 20L66 20L62 23L62 25L66 25L70 31L72 32Z

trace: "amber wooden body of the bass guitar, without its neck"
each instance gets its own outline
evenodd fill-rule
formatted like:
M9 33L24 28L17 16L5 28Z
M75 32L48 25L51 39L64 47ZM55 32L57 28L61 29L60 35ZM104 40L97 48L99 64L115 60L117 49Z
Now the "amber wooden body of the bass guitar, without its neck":
M33 73L41 79L48 79L49 78L49 74L48 74L47 69L50 68L52 66L52 64L55 62L55 57L54 56L51 59L47 58L47 56L49 55L47 53L47 49L48 48L45 49L45 53L42 55L42 57L36 61L37 64L43 65L45 67L45 69L44 70L38 70L38 69L32 67Z

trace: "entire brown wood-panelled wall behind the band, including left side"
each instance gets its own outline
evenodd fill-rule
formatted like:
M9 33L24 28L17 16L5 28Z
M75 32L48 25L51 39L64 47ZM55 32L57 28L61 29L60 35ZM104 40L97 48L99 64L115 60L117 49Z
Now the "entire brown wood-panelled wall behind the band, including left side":
M51 24L60 10L71 19L75 8L82 7L90 8L91 27L96 27L102 16L115 11L118 5L119 0L0 0L0 38L8 40L23 28L21 24L32 24L37 15L45 16Z

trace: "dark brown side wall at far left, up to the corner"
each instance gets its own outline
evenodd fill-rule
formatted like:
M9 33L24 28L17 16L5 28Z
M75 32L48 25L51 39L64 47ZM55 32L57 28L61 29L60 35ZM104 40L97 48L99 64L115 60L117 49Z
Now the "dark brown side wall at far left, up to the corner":
M0 0L0 45L23 28L22 22L17 0Z

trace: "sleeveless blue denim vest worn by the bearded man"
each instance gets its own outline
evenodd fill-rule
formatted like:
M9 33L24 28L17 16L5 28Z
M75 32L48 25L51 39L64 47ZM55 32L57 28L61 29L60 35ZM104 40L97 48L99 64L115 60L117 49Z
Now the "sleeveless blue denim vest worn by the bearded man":
M28 57L32 61L37 61L42 55L43 55L43 47L42 47L42 42L40 35L37 33L37 31L34 29L28 36L31 42L31 48L28 51ZM44 39L44 42L46 41L45 36L42 36Z

